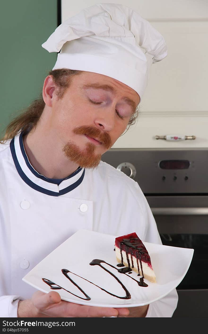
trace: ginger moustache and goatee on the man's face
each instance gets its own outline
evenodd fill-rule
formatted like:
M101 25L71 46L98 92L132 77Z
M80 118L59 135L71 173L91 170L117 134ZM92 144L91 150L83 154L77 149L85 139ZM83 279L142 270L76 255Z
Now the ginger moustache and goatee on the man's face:
M87 135L98 140L107 150L113 145L110 135L107 132L101 133L99 129L93 127L80 126L75 128L73 132L77 135ZM86 147L81 150L78 145L69 141L64 145L63 152L65 157L84 168L96 168L99 165L102 156L102 154L94 153L95 145L93 143L87 143Z

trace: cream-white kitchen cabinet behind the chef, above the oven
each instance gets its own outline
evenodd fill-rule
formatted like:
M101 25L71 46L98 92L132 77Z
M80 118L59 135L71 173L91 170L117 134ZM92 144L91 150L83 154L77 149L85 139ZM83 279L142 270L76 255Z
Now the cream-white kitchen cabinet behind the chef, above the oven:
M103 1L111 3L111 1ZM62 0L62 22L97 1ZM151 67L136 125L114 148L197 148L208 146L208 1L112 1L127 5L164 37L168 56ZM155 135L196 136L170 142Z

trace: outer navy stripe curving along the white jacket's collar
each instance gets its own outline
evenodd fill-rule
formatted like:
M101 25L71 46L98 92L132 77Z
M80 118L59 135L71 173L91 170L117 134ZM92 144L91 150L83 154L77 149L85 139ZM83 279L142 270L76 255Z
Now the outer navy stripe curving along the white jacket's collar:
M31 188L33 188L34 190L37 190L39 192L42 192L43 194L46 194L46 195L50 195L50 196L60 196L60 195L64 195L70 191L72 191L73 189L75 189L76 187L78 187L81 182L83 181L84 179L84 174L85 174L85 169L83 169L83 173L81 175L81 177L73 184L71 184L70 186L60 190L59 192L55 192L55 191L51 191L51 190L48 190L48 189L45 189L45 188L42 188L40 186L38 186L37 184L35 184L34 182L32 182L26 175L25 173L23 172L23 170L21 169L20 167L20 164L19 164L19 161L17 159L17 155L16 155L16 152L15 152L15 146L14 146L14 138L11 140L10 142L10 150L11 150L11 154L12 154L12 158L14 160L14 164L15 164L15 167L17 169L17 172L19 174L19 176L22 178L22 180L27 184L29 185ZM28 161L28 159L27 159ZM29 162L29 161L28 161ZM30 165L31 166L31 165ZM81 169L80 169L81 170ZM35 170L34 170L35 171ZM36 172L36 171L35 171ZM77 172L77 171L76 171ZM75 172L75 173L76 173ZM37 172L36 172L37 173ZM34 173L33 173L34 174ZM77 173L76 173L77 174ZM36 174L35 174L36 175ZM38 174L40 175L40 174ZM73 173L73 175L75 175ZM71 176L71 175L70 175ZM46 178L47 179L47 178Z

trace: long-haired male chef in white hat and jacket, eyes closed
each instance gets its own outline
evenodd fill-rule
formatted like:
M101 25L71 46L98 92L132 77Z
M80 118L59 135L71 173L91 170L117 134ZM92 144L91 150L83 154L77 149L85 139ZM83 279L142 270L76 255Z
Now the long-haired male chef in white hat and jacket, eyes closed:
M176 290L115 309L62 301L22 281L79 229L136 232L161 244L138 183L101 156L135 121L151 65L167 55L163 37L128 7L96 4L42 46L61 50L42 97L9 124L0 144L0 316L171 317Z

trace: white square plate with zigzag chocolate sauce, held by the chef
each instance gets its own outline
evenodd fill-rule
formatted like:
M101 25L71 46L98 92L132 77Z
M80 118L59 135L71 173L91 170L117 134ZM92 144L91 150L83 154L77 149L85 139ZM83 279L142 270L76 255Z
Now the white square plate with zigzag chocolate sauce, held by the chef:
M43 259L22 280L45 293L52 290L43 279L48 280L47 282L51 281L54 283L53 287L59 288L53 290L60 294L62 300L77 304L102 307L142 306L161 299L180 284L188 271L194 253L190 248L143 242L150 255L157 283L144 279L148 287L140 287L132 280L134 278L139 281L135 272L131 275L118 273L119 268L116 267L114 252L115 238L113 235L79 230ZM123 287L115 277L100 266L90 265L94 259L104 260L115 267L101 263L122 282L131 295L130 299L120 299L109 294L126 296ZM86 300L82 291L63 275L62 269L70 271L66 275L90 297L90 300Z

